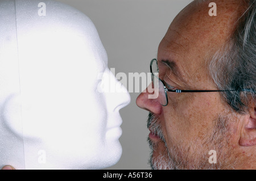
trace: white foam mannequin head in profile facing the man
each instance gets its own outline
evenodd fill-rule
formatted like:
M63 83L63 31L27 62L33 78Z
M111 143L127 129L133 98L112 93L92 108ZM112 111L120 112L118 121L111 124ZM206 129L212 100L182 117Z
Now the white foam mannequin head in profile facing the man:
M15 20L16 19L16 20ZM103 79L101 79L103 76ZM49 0L0 1L0 167L102 169L118 162L130 102L90 19Z

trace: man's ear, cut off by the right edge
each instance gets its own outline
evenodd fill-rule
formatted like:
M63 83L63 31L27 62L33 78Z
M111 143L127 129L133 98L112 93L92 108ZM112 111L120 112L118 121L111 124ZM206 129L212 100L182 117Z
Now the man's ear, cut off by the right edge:
M256 105L252 103L249 107L249 115L243 120L240 141L241 146L256 145Z

